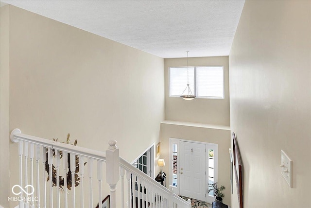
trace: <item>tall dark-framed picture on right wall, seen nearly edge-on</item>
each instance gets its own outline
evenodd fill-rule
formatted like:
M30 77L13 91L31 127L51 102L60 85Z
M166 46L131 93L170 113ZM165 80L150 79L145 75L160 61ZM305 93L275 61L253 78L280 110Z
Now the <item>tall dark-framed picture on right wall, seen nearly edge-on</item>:
M233 142L233 167L235 172L235 181L237 185L237 193L239 198L239 206L243 208L243 184L242 184L242 162L240 151L235 133L232 133Z

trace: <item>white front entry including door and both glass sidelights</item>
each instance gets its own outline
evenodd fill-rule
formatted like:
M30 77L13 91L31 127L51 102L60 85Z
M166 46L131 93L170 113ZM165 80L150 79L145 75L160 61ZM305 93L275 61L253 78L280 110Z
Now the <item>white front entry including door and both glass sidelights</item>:
M217 158L217 144L170 138L169 183L174 193L211 203L208 184L217 182Z

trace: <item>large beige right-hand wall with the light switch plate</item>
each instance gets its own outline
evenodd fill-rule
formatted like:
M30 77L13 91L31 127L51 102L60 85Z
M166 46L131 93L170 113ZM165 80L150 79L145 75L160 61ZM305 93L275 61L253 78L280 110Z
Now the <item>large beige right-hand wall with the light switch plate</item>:
M311 1L244 4L229 66L245 208L311 207L310 10ZM293 188L280 173L281 150L293 160Z

